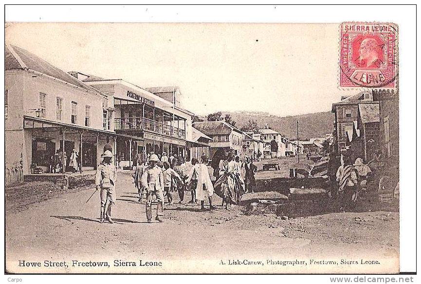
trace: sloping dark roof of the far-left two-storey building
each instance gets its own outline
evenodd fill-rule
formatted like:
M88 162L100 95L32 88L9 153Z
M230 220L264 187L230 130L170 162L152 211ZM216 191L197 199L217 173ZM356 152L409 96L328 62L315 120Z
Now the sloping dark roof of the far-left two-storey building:
M18 48L13 45L7 45L5 48L5 53L6 70L29 68L45 75L57 78L61 81L73 84L85 90L100 93L95 88L77 80L72 75L59 69L58 67L53 66L52 64L27 50Z

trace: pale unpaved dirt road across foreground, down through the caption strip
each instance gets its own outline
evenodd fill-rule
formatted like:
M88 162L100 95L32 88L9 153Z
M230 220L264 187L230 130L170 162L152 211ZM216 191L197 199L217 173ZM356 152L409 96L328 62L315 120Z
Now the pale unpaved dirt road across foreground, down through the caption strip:
M85 204L92 194L91 187L57 195L21 207L19 211L6 204L7 270L20 273L390 273L399 270L398 213L330 213L282 220L275 215L246 216L242 206L234 206L231 211L199 212L197 204L175 204L165 206L164 223L148 224L145 203L137 202L130 174L118 175L115 224L98 222L98 193ZM190 194L185 193L188 201ZM278 193L259 195L276 197ZM177 193L174 196L177 202ZM247 194L243 200L250 198L256 198L256 194ZM218 207L220 201L220 198L215 200ZM341 259L347 264L341 264ZM19 267L19 260L40 262L40 267ZM73 266L73 260L108 262L110 267ZM136 266L114 266L114 260L133 261ZM142 264L161 262L161 266L140 266L140 260ZM237 260L241 264L230 265ZM244 260L248 262L243 263ZM298 260L302 264L274 265L270 260ZM66 264L45 267L44 261ZM314 261L336 263L326 265ZM361 264L361 261L380 264Z

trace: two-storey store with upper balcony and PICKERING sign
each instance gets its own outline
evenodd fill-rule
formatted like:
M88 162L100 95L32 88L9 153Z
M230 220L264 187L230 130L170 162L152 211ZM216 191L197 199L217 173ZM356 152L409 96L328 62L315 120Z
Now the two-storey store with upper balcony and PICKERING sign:
M116 133L136 137L117 140L118 160L124 166L132 165L137 153L145 157L150 151L172 152L189 158L186 141L191 140L191 119L194 114L181 108L168 96L158 96L162 94L159 92L162 88L149 88L155 94L123 79L103 79L80 72L71 74L113 101ZM180 92L177 93L179 98Z

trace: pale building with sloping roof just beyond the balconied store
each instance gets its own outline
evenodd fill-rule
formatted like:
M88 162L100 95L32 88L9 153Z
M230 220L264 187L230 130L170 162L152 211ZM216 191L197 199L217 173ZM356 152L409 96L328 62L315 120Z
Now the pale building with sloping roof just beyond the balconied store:
M243 155L244 133L225 121L194 122L193 127L212 138L209 142L210 157L218 150L232 150L238 156Z

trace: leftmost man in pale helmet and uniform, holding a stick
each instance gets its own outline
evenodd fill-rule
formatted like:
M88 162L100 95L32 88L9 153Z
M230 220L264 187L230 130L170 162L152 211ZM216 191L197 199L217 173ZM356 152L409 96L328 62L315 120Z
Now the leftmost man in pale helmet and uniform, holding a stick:
M103 158L103 161L97 167L95 173L96 190L100 190L101 196L101 216L99 218L99 222L104 223L104 219L106 219L112 224L114 221L111 219L111 209L115 205L115 182L117 179L117 170L111 163L111 151L106 150L101 157ZM105 205L107 200L109 203L106 211Z

